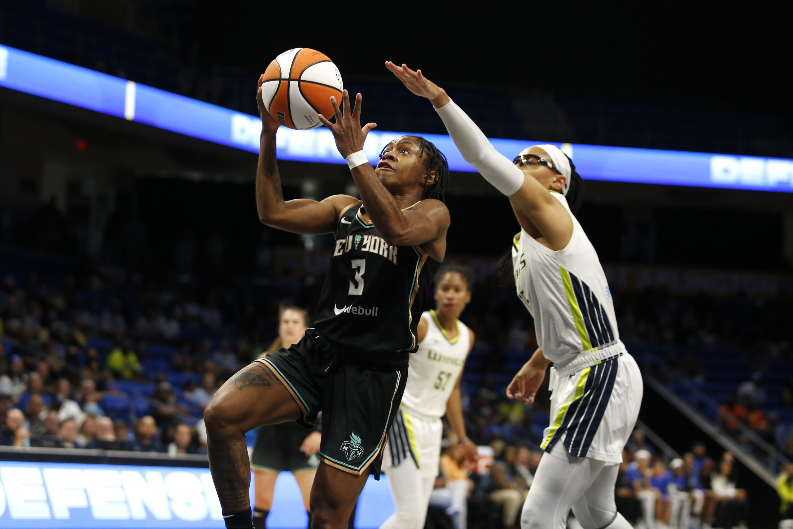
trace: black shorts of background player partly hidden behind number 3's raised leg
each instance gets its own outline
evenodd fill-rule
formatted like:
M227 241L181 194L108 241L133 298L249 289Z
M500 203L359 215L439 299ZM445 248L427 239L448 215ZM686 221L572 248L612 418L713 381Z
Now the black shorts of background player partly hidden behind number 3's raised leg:
M308 458L300 451L309 433L294 423L260 427L251 454L251 468L273 472L316 470L316 458Z

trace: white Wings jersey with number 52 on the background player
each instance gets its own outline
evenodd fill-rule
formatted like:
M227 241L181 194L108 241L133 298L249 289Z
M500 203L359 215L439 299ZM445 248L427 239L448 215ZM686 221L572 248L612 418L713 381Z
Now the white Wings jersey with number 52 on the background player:
M446 414L446 401L471 348L471 334L458 320L457 336L450 340L435 317L435 311L424 312L421 317L427 320L427 335L419 343L419 350L410 355L408 385L404 388L402 405L424 416L440 419Z

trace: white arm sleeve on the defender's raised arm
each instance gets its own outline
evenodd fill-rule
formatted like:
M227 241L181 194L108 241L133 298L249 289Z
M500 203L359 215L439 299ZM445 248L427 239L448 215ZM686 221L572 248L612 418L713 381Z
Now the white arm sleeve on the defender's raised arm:
M493 148L487 136L458 105L450 101L435 112L443 120L462 157L476 167L485 180L508 197L523 186L523 171Z

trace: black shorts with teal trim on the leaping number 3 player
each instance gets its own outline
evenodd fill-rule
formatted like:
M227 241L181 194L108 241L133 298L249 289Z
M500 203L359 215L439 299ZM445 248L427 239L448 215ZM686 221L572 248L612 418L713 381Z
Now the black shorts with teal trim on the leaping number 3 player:
M315 329L262 362L283 382L313 427L322 412L320 459L339 470L380 478L383 448L408 379L408 355L369 358L337 347Z

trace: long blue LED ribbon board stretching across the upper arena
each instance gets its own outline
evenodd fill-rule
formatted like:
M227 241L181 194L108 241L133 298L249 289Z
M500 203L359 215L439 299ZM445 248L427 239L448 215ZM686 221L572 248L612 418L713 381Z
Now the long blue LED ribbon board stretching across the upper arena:
M259 152L262 127L259 117L14 48L0 47L0 86L216 144ZM370 160L377 159L381 148L402 134L370 132L364 147L366 155ZM449 136L423 136L446 154L452 171L476 171L462 159ZM547 143L491 141L496 150L508 159L531 144ZM579 174L588 180L793 192L791 159L601 145L557 145L572 155ZM278 159L344 163L327 128L308 131L280 128Z

